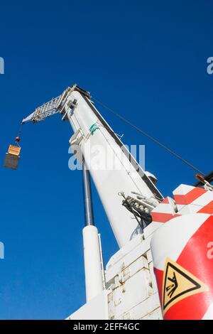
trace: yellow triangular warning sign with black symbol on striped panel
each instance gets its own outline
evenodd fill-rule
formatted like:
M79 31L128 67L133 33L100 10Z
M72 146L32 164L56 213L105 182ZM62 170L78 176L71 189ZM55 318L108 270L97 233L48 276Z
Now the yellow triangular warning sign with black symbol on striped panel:
M183 298L207 291L208 287L178 263L167 258L163 273L163 313Z

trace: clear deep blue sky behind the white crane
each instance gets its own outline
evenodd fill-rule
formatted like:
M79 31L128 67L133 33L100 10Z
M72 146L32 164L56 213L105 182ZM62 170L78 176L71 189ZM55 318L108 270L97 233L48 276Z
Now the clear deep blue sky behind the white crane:
M212 166L212 1L10 1L0 7L2 163L19 122L68 85L92 92L204 172ZM171 195L194 172L99 108ZM82 306L82 181L68 123L26 124L17 171L0 167L1 319L62 319ZM117 250L94 195L104 259Z

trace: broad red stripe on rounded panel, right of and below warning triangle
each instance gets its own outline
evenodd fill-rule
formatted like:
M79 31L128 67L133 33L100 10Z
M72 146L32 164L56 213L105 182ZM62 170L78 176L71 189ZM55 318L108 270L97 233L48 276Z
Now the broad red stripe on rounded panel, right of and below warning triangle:
M213 302L213 259L207 257L207 244L213 240L210 216L187 242L177 263L209 287L209 291L183 298L165 313L165 319L202 319ZM161 286L162 289L162 286Z

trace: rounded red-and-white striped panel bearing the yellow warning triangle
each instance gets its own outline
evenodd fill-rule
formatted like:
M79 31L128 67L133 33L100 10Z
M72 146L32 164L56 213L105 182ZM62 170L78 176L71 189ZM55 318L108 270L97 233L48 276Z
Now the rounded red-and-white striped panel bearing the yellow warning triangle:
M162 306L165 306L163 285L168 259L175 263L177 268L182 268L182 272L187 272L195 283L197 280L204 286L203 290L194 289L190 295L185 283L181 285L181 279L178 279L174 289L179 289L180 292L182 289L183 292L177 294L177 299L164 309L165 319L213 319L213 256L208 256L209 242L213 244L213 216L204 213L175 217L154 232L151 252ZM169 277L171 284L175 277L172 277L172 272L170 271ZM183 277L184 280L187 281ZM167 298L170 297L167 295Z

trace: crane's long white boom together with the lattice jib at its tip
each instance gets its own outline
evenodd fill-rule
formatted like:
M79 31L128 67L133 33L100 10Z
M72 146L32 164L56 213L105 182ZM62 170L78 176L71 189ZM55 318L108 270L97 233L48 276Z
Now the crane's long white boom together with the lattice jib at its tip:
M77 85L67 87L62 95L36 108L23 123L40 122L53 114L62 114L63 120L69 120L74 131L70 146L77 158L80 154L84 157L119 247L123 247L143 231L130 201L124 200L129 208L126 210L119 194L137 193L145 206L156 205L163 196L94 107L89 92Z

